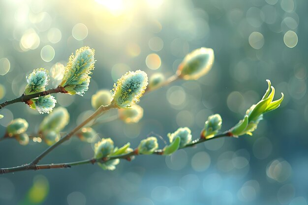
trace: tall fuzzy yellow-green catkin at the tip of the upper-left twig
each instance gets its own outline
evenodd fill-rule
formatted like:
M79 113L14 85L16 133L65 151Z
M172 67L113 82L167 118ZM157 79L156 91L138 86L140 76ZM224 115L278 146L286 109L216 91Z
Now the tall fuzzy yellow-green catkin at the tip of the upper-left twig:
M88 90L91 70L94 69L94 49L82 47L72 54L65 67L64 76L60 86L69 94L82 95Z

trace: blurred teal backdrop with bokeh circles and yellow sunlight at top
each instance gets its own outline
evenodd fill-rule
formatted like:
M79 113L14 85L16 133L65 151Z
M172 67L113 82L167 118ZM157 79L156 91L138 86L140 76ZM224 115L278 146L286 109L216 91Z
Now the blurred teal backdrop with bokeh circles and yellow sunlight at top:
M49 88L62 79L72 52L95 49L95 70L82 96L56 94L70 113L65 131L89 116L91 96L112 89L128 70L175 73L190 51L215 51L212 70L197 81L177 81L146 94L139 123L96 126L99 137L136 147L147 136L188 126L194 138L211 114L222 130L243 118L267 83L285 94L279 109L253 133L217 139L172 156L138 156L115 171L97 165L0 176L1 205L307 205L308 1L306 0L0 0L0 101L20 96L26 75L44 67ZM0 133L13 119L46 116L24 104L0 111ZM110 112L108 115L115 115ZM160 147L164 142L159 140ZM0 167L31 161L47 148L0 143ZM91 158L92 145L72 139L42 163Z

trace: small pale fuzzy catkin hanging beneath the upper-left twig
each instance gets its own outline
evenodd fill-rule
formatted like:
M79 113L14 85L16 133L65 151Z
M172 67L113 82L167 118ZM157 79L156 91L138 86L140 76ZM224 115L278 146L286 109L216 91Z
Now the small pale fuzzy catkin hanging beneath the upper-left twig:
M56 106L57 100L52 95L39 96L37 99L32 99L35 109L40 113L50 113ZM31 106L30 106L31 107ZM32 107L31 107L32 108Z

